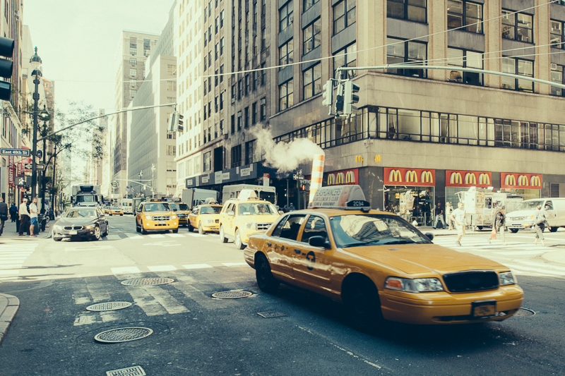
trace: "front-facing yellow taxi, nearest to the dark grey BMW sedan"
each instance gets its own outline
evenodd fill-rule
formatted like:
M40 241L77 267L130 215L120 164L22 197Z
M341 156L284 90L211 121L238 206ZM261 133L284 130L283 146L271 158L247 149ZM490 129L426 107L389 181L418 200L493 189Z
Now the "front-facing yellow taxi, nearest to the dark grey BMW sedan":
M139 204L136 214L136 231L147 234L148 231L179 232L179 219L174 214L169 202L151 199Z

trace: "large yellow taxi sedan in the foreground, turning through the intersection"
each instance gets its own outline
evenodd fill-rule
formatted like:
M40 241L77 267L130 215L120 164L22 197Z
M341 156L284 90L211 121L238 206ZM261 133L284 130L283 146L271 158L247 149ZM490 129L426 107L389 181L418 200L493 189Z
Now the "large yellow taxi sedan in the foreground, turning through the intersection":
M352 325L383 320L462 324L506 320L523 290L508 267L432 243L401 217L371 210L359 186L317 190L307 210L283 215L244 250L262 291L299 286L350 311Z

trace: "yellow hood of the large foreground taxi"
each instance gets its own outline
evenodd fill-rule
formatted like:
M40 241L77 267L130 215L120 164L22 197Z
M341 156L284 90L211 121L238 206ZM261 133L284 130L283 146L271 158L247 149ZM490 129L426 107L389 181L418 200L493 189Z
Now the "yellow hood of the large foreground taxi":
M343 248L344 253L406 274L445 274L460 270L508 269L487 258L436 244L394 244Z

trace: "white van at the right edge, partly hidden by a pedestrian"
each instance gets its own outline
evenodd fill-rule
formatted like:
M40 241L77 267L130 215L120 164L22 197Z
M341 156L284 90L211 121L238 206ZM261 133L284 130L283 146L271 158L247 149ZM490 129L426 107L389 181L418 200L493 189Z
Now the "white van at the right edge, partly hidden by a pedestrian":
M544 210L552 232L565 227L565 198L536 198L520 202L516 210L506 214L506 229L514 233L520 229L532 229L537 205Z

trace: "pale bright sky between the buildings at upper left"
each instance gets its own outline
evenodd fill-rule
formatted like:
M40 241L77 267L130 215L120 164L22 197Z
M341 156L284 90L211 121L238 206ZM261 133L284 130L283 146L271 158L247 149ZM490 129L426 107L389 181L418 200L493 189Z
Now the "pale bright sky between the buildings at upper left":
M23 24L30 28L45 78L55 81L55 106L83 101L95 111L114 109L121 31L159 34L173 2L23 0Z

